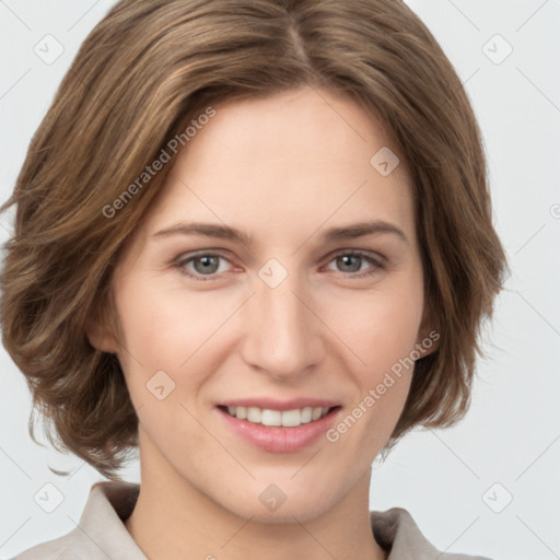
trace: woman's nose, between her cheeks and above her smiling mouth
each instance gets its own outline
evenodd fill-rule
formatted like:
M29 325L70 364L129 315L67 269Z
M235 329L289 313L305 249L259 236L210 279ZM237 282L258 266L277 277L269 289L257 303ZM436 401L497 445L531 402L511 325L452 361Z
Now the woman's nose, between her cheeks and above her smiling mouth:
M293 380L324 354L322 323L296 284L291 275L276 288L261 283L244 306L243 358L277 380Z

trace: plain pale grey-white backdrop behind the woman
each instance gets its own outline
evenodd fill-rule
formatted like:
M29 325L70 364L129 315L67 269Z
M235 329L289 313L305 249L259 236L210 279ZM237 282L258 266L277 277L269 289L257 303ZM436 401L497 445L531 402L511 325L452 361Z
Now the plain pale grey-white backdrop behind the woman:
M0 201L79 45L112 4L0 1ZM413 432L376 462L371 508L408 509L442 550L552 560L560 558L560 1L409 5L454 63L479 118L512 275L487 329L467 418ZM52 57L63 48L54 61L36 54L45 40ZM2 243L11 217L1 217ZM8 559L74 528L103 478L31 440L30 393L3 349L0 372L0 557ZM138 464L124 476L138 482ZM38 498L46 494L47 504Z

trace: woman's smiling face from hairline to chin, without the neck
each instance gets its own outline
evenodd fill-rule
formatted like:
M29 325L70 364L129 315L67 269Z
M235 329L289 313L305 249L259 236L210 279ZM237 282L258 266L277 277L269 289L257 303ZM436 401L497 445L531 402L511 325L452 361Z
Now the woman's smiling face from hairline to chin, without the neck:
M319 92L215 106L113 279L143 467L271 523L369 478L425 336L404 162L372 164L383 130Z

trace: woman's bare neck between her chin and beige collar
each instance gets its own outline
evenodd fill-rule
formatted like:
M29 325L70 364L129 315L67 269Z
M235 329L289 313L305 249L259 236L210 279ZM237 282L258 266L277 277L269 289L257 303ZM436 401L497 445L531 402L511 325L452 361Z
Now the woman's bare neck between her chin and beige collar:
M165 460L141 453L140 493L125 525L152 560L384 560L371 528L370 476L368 470L340 502L310 521L259 523L225 510Z

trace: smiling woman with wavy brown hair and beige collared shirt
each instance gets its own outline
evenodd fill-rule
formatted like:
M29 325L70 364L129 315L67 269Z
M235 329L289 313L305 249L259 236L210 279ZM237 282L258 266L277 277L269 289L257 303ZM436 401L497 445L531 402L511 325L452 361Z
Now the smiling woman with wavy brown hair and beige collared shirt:
M22 558L438 556L369 511L371 464L466 412L505 259L472 110L405 4L118 2L10 205L5 348L113 479Z

